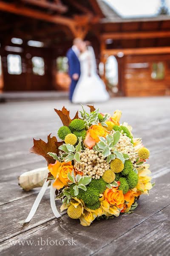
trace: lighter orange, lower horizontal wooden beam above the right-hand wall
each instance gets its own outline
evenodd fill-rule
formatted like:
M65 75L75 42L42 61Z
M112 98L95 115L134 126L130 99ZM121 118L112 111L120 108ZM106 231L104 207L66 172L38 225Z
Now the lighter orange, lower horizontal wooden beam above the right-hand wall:
M132 48L132 49L104 49L102 55L149 55L149 54L166 54L170 53L170 47L147 47L147 48Z

